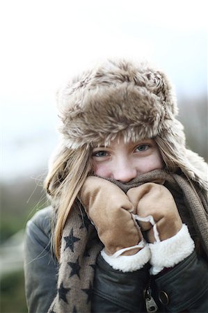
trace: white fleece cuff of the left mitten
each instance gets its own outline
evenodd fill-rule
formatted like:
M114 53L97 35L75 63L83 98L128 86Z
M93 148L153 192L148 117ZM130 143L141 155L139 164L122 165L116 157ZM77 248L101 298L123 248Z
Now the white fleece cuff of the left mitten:
M122 249L123 250L123 249ZM143 266L150 260L150 248L146 244L144 248L139 250L135 255L107 255L104 250L101 252L104 260L111 265L115 270L122 272L134 272Z

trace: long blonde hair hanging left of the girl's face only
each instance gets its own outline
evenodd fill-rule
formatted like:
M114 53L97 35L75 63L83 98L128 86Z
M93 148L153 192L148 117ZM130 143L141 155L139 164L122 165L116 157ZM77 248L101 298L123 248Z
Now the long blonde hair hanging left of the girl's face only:
M45 189L56 210L51 223L51 246L57 259L60 257L63 227L92 168L90 154L90 147L87 145L77 150L63 147L52 162L45 179Z

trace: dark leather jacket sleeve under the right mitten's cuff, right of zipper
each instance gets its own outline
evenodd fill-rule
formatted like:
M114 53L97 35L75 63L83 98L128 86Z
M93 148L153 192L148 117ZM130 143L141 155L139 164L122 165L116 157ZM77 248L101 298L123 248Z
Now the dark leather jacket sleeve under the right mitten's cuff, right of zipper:
M208 264L195 251L155 282L168 312L208 312Z

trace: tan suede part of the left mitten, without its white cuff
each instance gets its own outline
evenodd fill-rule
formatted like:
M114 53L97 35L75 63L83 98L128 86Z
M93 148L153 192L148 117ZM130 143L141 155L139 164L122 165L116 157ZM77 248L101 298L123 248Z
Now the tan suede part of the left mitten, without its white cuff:
M95 176L86 179L79 193L79 200L97 229L108 255L137 245L142 234L131 216L134 207L127 195L115 184ZM129 250L123 255L133 255Z

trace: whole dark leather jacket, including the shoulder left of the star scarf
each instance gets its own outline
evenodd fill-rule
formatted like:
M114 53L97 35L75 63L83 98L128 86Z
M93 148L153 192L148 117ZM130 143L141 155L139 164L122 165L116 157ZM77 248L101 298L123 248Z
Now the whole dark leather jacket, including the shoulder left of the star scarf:
M51 207L38 211L26 226L24 272L29 313L49 310L56 296L58 262L51 253ZM208 264L195 251L155 276L146 264L122 273L97 257L92 312L208 312Z

